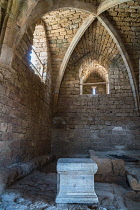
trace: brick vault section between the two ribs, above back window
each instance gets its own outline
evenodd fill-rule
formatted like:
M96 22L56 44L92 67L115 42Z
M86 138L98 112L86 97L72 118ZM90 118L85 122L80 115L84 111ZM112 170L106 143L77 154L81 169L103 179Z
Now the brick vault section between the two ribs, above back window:
M91 60L96 59L98 64L106 68L110 60L118 55L118 53L118 48L112 37L96 19L78 42L70 58L70 63L77 63L85 55L92 54Z

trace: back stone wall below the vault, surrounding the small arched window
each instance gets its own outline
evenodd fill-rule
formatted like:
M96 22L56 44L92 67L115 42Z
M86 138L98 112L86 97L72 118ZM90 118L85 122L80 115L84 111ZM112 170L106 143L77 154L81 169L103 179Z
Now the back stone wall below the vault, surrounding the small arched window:
M78 63L69 63L61 85L58 112L53 118L53 151L70 156L88 154L89 149L139 149L139 118L121 56L108 68L107 95L80 95L79 68Z

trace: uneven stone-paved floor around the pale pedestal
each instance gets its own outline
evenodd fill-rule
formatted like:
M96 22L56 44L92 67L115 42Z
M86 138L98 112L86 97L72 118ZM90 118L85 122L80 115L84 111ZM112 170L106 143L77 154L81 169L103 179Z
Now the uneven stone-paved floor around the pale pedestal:
M140 210L137 192L129 187L95 183L99 206L55 204L56 162L19 180L0 196L0 210Z

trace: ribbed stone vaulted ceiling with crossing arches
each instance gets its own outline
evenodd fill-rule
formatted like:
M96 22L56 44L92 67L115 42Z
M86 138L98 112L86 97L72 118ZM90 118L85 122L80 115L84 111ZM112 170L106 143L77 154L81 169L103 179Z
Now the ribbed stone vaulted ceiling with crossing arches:
M84 57L103 68L122 56L139 107L140 1L139 0L10 0L1 4L1 61L13 57L26 30L41 18L46 26L53 73L54 101L65 70ZM85 73L86 74L86 73Z

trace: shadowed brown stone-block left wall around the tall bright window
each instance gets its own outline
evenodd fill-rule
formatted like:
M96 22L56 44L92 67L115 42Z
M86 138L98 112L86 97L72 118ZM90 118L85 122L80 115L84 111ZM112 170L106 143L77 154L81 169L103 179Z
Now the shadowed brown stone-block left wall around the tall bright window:
M12 67L0 64L1 166L44 155L51 149L51 66L45 81L31 69L34 27L31 29L17 47Z

